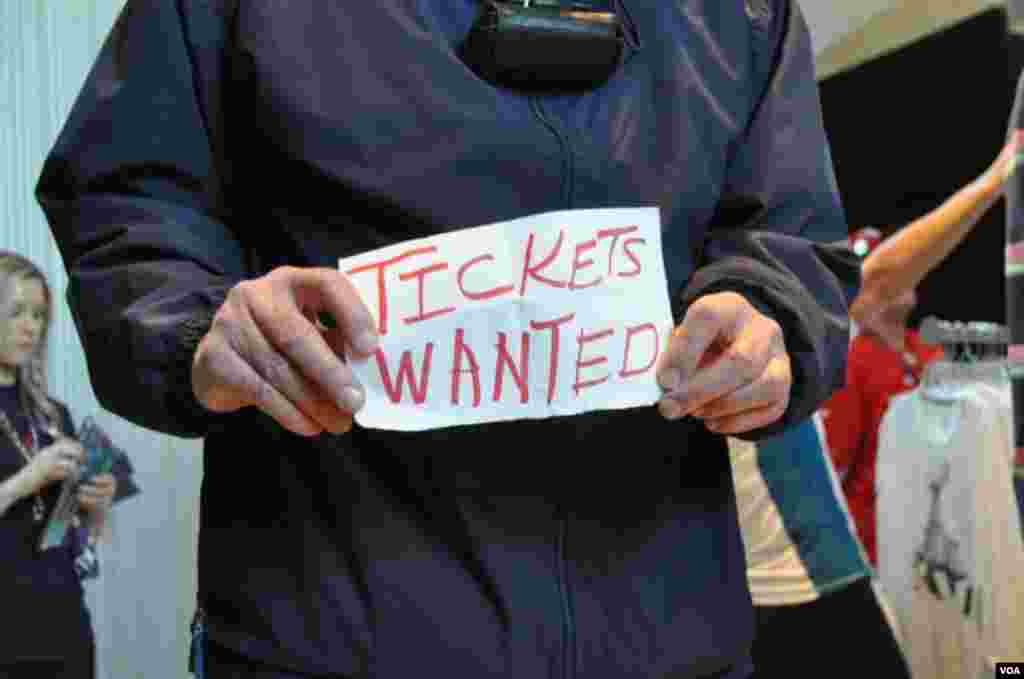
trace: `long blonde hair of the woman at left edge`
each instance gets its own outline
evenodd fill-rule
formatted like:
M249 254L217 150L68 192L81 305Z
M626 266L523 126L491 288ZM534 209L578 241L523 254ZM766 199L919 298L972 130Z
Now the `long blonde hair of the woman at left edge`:
M39 343L32 357L18 366L16 372L17 395L26 413L44 429L62 429L60 415L53 400L46 393L46 337L50 329L52 295L46 277L31 260L13 252L0 250L0 322L7 322L14 285L18 281L38 281L46 297L46 320Z

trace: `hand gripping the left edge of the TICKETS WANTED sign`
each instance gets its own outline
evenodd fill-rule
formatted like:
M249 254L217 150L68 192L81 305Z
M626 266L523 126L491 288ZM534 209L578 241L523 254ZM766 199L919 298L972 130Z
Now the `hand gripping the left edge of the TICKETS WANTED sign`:
M319 312L337 325L318 327ZM343 273L283 266L228 293L197 347L193 391L217 413L255 406L298 434L342 433L366 400L342 354L377 345L373 316Z

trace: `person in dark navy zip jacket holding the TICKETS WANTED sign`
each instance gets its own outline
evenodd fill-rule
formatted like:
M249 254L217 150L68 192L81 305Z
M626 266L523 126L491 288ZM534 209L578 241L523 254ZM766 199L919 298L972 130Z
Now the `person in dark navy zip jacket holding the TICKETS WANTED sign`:
M857 266L796 4L613 4L618 69L546 94L459 58L471 0L129 0L38 195L100 400L206 437L211 676L749 673L719 433L841 383ZM352 426L339 258L620 206L660 209L658 409Z

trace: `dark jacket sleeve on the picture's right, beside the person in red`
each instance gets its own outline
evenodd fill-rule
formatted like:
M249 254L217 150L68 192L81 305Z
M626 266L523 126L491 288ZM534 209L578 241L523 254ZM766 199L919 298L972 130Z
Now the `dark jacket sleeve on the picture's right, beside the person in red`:
M809 417L843 383L860 268L846 246L807 26L790 0L748 7L761 94L676 317L698 297L733 291L781 326L790 406L776 423L740 435L757 440Z

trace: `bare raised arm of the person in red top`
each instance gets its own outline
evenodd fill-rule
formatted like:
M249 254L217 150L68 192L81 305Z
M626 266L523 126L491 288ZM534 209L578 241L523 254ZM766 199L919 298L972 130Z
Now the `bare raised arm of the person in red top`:
M876 248L864 259L860 295L851 310L877 308L942 263L1002 197L1012 158L1008 144L981 176Z

